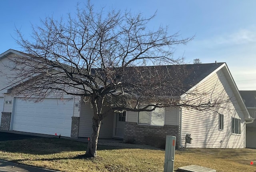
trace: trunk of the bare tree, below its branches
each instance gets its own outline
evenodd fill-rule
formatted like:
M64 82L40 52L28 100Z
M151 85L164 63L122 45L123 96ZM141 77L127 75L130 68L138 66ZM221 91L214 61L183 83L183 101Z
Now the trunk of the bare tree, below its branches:
M86 150L86 157L96 157L97 156L97 144L98 144L98 137L100 133L100 124L101 119L99 118L92 118L92 134L90 138L88 138L88 146Z

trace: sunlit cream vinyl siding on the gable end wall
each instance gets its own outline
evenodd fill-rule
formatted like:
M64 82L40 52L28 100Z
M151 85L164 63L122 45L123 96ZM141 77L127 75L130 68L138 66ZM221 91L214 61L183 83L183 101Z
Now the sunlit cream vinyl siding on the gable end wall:
M228 96L232 102L221 104L216 110L224 115L224 130L219 130L219 115L210 110L198 111L182 108L182 143L185 142L186 134L191 134L191 148L244 148L244 114L238 102L234 100L234 93L230 88L226 76L219 70L210 78L206 79L196 88L197 92L212 93L212 97L223 98ZM194 96L194 95L193 95ZM205 100L208 102L208 98ZM241 119L241 134L232 134L231 118Z

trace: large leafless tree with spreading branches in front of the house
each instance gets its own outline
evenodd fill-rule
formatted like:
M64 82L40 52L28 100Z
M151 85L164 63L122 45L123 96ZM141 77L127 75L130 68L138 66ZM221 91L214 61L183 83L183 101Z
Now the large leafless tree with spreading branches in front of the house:
M188 70L179 65L152 66L179 64L180 59L172 56L173 46L191 40L178 33L169 35L167 27L148 30L152 18L115 10L95 12L88 2L67 22L41 20L42 26L33 27L32 39L17 30L17 42L26 54L12 58L18 73L13 80L19 86L9 91L40 98L54 91L90 102L94 115L88 157L97 155L100 125L110 112L153 111L180 104L210 108L208 100L194 104L179 100L187 90L180 78Z

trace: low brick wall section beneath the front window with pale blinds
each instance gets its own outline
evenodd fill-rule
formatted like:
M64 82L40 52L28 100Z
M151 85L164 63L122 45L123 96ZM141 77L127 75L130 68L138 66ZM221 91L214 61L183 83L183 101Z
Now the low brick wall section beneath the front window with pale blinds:
M124 142L147 144L165 148L166 135L176 136L176 148L179 147L179 126L138 125L136 122L125 122Z

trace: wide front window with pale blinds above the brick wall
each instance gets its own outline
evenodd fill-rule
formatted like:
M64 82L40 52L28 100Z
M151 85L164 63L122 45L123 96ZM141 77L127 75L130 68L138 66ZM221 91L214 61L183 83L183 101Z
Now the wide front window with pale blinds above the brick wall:
M152 112L139 112L138 123L139 124L148 124L156 126L164 126L164 108L156 108Z

